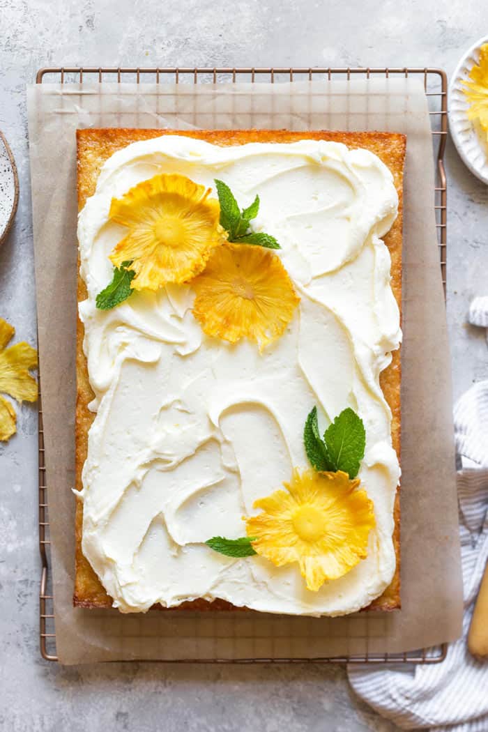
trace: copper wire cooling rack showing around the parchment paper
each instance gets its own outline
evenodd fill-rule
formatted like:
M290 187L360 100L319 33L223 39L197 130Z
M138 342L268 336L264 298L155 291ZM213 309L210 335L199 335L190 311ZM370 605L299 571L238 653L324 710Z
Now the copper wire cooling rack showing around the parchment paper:
M444 169L444 152L447 138L447 76L436 68L387 68L387 67L49 67L37 72L36 83L219 83L222 81L324 81L351 78L393 78L416 76L424 81L429 102L432 127L432 145L436 164L435 218L438 232L438 249L444 293L446 293L446 241L447 241L447 182ZM40 578L40 652L43 659L57 661L56 630L54 625L54 597L50 572L50 531L48 518L48 486L45 480L44 430L42 425L42 400L39 396L39 549L41 557ZM368 664L434 664L446 658L447 644L431 649L421 649L399 654L368 654L318 658L245 658L245 659L182 659L163 661L169 663L368 663Z

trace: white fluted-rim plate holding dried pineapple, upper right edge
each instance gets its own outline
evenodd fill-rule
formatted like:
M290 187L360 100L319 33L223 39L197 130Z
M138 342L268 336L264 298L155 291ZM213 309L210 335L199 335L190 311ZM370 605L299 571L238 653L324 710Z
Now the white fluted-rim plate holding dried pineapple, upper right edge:
M469 102L462 89L461 81L468 81L470 70L478 63L479 50L488 42L488 36L480 38L465 53L457 65L449 85L449 129L457 152L468 165L471 173L488 184L488 144L486 132L468 119Z

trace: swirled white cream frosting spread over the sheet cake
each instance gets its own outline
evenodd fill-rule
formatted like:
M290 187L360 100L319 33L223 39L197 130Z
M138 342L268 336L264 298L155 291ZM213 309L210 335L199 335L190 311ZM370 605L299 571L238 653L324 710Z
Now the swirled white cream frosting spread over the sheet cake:
M206 336L188 285L133 294L113 310L95 299L112 277L124 228L110 201L157 173L214 189L241 206L260 196L255 231L301 302L287 331L260 354ZM215 193L215 189L214 189ZM216 195L216 193L215 193ZM401 340L381 237L397 215L390 171L374 154L326 141L219 147L179 135L132 143L103 165L79 215L83 348L96 411L83 467L83 553L122 612L160 602L222 598L270 613L340 615L368 605L394 575L399 463L380 372ZM374 501L367 559L319 591L298 564L230 559L203 542L245 534L252 504L309 467L303 429L318 405L322 429L344 408L367 434L359 477Z

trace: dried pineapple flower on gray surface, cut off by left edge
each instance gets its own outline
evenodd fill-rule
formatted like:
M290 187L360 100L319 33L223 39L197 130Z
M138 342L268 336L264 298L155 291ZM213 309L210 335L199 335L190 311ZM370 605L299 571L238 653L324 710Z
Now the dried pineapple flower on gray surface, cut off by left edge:
M14 333L15 328L0 318L0 392L18 402L35 402L37 382L29 369L37 367L37 351L29 343L15 343L15 346L7 348ZM16 421L12 404L0 396L0 441L15 434Z

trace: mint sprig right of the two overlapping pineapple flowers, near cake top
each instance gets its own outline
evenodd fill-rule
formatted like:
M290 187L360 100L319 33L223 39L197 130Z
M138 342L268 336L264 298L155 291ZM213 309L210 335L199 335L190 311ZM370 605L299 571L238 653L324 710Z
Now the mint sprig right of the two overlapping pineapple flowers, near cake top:
M266 249L281 249L271 234L265 234L263 231L249 231L250 222L259 212L258 195L250 206L241 211L228 184L215 179L215 186L220 203L220 225L228 231L229 242L254 244L258 247L266 247Z

